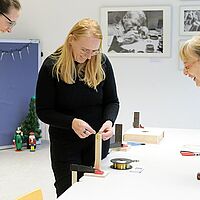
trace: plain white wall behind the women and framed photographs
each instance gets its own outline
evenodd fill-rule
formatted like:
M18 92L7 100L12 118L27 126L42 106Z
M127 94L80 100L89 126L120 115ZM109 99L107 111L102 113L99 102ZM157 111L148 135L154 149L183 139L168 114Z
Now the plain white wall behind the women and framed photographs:
M140 3L142 2L142 4ZM1 38L40 39L44 58L60 46L67 31L79 19L100 21L100 7L169 5L171 57L110 57L121 102L117 123L132 125L134 111L141 112L144 126L200 129L200 88L178 69L179 6L199 1L181 0L21 0L22 15L11 34Z

